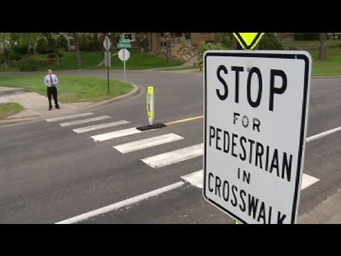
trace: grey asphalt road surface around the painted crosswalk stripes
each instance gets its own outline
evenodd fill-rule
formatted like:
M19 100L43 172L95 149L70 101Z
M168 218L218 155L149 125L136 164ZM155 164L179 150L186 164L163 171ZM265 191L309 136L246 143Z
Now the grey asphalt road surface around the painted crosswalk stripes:
M103 78L107 75L105 71L65 73ZM123 74L112 72L111 78L123 80ZM102 142L94 142L90 137L148 124L149 85L155 87L156 122L172 122L203 113L200 74L129 71L126 78L139 85L139 95L85 111L93 113L90 117L107 115L110 119L67 127L61 127L61 121L46 120L0 127L0 223L57 223L179 182L183 182L181 186L171 191L81 223L234 223L204 201L200 188L181 178L202 169L202 156L159 168L141 161L201 144L202 119ZM307 137L341 127L340 84L340 78L312 80ZM63 110L60 113L63 115ZM85 118L89 117L78 119ZM80 134L72 131L119 120L129 123ZM183 139L126 154L113 148L169 133ZM340 188L340 144L341 132L307 143L303 172L320 181L302 191L300 215Z

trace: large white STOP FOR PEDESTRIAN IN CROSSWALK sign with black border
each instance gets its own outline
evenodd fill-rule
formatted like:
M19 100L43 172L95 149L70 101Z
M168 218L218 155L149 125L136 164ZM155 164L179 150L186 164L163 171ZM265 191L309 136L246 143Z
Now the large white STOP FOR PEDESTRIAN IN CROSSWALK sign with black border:
M205 53L203 195L242 223L296 223L311 57Z

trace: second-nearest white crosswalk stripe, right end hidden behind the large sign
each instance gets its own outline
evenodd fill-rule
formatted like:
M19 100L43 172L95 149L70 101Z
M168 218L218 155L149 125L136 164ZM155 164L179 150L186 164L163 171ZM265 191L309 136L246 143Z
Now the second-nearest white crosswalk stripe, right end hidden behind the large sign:
M158 168L192 159L197 156L202 156L202 154L204 154L204 144L200 143L183 149L177 149L163 154L158 154L156 156L151 156L146 159L141 159L141 161L144 161L144 163L148 164L148 166Z

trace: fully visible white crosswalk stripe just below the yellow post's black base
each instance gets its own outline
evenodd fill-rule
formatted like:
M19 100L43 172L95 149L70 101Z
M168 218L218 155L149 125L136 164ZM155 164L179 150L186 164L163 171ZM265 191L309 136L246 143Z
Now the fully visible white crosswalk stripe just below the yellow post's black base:
M141 139L135 142L129 142L126 144L113 146L113 148L125 154L131 151L146 149L151 146L158 146L158 145L166 144L169 142L175 142L175 141L178 141L179 139L183 139L183 137L177 134L170 133L170 134L163 134L163 135L156 136L156 137L151 137L148 139Z

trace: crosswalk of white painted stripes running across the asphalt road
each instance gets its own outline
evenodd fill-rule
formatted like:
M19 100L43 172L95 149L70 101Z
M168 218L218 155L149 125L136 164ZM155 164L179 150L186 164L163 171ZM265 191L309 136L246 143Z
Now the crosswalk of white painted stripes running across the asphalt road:
M67 115L67 116L62 116L62 117L46 119L46 121L47 122L60 122L59 125L61 127L74 127L79 124L87 124L89 122L98 122L98 121L111 118L107 115L88 118L90 115L93 115L93 114L94 113L92 112L83 113L83 114L72 114L72 115ZM77 120L72 120L70 122L63 122L64 120L69 120L69 119L77 119ZM111 132L96 134L96 135L92 135L89 137L94 142L110 141L113 143L115 142L115 139L119 139L121 137L130 138L129 136L131 135L142 134L146 132L148 132L148 134L151 134L151 137L148 137L146 139L136 139L134 141L126 142L124 144L112 145L112 148L114 148L114 150L116 151L119 151L121 154L129 154L134 151L141 151L142 149L150 149L153 146L160 146L163 144L171 144L171 143L174 144L175 142L179 142L185 139L184 137L181 137L178 134L169 133L169 132L155 136L155 134L153 134L153 131L155 131L155 129L140 131L139 129L136 129L136 127L128 127L128 128L124 127L127 124L130 124L130 122L126 120L118 120L114 122L94 124L91 126L77 127L75 129L72 129L72 132L75 132L77 134L82 134L86 132L99 131L100 129L104 129L104 128L112 128L114 130ZM148 156L144 159L139 159L139 160L141 160L144 164L146 164L147 166L150 166L153 169L160 170L163 167L182 163L183 161L186 161L188 159L195 159L199 156L202 156L203 154L204 154L204 144L200 143L200 144L194 144L194 145L182 147L180 149L175 149L172 151L160 152L160 154ZM185 181L189 183L192 183L193 186L202 188L202 170L195 171L194 173L188 174L186 176L182 176L181 178L183 178ZM313 183L316 183L317 181L319 181L318 178L304 174L302 189L313 185Z

